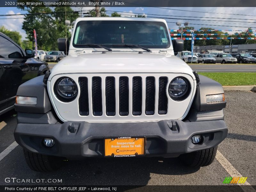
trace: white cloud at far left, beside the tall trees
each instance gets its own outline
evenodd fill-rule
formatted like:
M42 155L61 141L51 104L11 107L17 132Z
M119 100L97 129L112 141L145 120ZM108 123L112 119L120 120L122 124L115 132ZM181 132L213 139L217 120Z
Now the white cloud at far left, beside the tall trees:
M20 35L22 36L22 40L26 39L26 32L22 30L22 23L24 21L23 17L24 15L19 15L20 12L15 13L12 10L9 10L6 12L7 15L12 15L12 14L18 14L15 16L6 16L4 18L7 19L2 19L0 20L0 25L4 26L10 31L18 31L20 32ZM15 18L15 19L8 19L8 18Z

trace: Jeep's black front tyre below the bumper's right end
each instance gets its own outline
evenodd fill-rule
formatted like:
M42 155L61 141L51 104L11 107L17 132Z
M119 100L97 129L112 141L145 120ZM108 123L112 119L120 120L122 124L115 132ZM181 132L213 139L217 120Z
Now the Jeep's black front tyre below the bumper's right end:
M218 146L192 153L182 154L181 161L190 167L204 167L210 165L215 159Z

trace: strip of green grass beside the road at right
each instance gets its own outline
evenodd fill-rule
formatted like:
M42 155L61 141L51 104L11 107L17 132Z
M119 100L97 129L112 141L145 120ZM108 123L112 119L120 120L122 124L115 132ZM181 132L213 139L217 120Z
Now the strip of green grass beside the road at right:
M222 85L256 85L256 73L199 72Z

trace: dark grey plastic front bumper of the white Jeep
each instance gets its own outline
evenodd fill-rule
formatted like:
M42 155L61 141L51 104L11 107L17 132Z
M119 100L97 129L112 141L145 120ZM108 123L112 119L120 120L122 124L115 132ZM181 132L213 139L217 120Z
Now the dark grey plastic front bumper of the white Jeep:
M18 124L14 137L17 143L28 151L44 155L67 158L103 157L104 138L135 136L146 137L146 155L176 157L217 146L227 136L228 129L223 120L183 122L163 120L145 123L80 123L75 133L63 124ZM176 131L175 126L176 124ZM203 143L195 145L191 137L201 134ZM46 148L44 138L52 138L55 145Z

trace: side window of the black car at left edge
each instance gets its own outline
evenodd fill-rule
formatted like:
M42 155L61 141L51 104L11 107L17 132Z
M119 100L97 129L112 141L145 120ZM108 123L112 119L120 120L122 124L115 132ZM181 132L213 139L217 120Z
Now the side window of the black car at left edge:
M22 59L23 55L19 47L0 36L0 58Z

